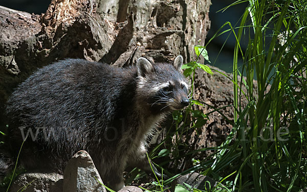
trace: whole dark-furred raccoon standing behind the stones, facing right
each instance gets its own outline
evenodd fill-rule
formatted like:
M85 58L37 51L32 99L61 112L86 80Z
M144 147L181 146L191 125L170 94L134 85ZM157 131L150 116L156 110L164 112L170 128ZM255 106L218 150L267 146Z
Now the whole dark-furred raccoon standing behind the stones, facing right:
M12 157L26 139L19 156L22 166L61 173L77 151L85 150L102 181L121 189L127 165L151 171L146 156L150 131L167 113L189 105L182 62L182 56L173 64L141 57L136 66L116 68L66 59L37 70L7 102L5 143Z

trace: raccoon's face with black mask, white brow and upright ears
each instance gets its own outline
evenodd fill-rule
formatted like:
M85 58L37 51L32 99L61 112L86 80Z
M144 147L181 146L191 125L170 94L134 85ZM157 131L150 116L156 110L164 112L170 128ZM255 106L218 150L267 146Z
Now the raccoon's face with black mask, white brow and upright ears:
M180 110L189 105L189 86L180 72L182 62L182 56L173 64L151 64L145 58L138 59L137 94L152 111Z

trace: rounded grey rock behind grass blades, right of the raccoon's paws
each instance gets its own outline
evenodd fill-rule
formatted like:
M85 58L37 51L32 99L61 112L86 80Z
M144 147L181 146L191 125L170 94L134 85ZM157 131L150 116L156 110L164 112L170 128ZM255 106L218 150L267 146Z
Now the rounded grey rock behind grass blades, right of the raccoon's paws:
M171 191L175 191L175 187L177 184L184 185L184 183L190 185L191 187L198 188L201 190L205 190L205 188L209 189L210 186L212 188L217 185L217 182L208 176L204 176L198 173L189 173L173 180L173 182L171 183Z

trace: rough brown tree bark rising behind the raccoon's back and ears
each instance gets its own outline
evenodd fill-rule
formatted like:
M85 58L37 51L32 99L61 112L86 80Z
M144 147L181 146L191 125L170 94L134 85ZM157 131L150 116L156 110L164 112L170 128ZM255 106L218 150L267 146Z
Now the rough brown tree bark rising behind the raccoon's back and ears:
M140 56L190 61L210 27L209 6L210 0L53 0L41 15L0 6L0 122L13 88L63 58L119 67Z

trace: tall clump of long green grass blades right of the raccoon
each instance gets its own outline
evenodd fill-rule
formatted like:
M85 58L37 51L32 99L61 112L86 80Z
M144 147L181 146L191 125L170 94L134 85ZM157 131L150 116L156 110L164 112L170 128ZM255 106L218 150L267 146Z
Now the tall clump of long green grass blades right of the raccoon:
M307 186L307 2L236 1L227 8L246 2L239 27L230 30L235 125L204 173L236 172L235 191L299 191ZM246 79L238 82L240 74ZM245 108L240 98L248 100Z

